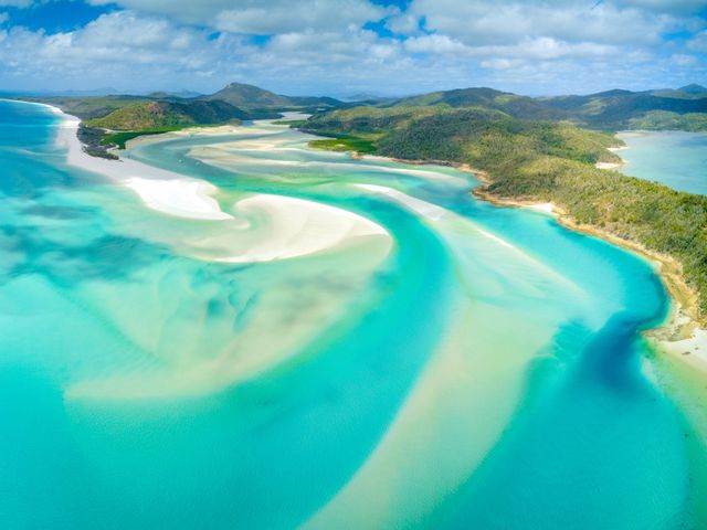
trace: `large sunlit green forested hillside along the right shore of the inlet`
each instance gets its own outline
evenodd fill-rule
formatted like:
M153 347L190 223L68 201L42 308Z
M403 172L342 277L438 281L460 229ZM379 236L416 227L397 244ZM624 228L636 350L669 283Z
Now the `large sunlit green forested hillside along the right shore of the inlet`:
M706 197L597 169L597 161L616 159L606 150L618 141L609 134L493 109L395 110L337 110L300 128L340 138L318 147L363 141L377 155L469 165L487 173L488 197L553 202L582 226L672 256L700 295L700 317L707 316Z

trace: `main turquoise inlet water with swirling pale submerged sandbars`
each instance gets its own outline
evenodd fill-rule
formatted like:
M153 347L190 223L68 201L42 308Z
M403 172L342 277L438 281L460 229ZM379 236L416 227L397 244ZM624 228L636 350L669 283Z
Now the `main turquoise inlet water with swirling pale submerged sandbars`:
M644 261L266 124L131 148L250 223L167 215L0 116L3 528L698 528ZM257 193L389 237L210 258L272 226Z

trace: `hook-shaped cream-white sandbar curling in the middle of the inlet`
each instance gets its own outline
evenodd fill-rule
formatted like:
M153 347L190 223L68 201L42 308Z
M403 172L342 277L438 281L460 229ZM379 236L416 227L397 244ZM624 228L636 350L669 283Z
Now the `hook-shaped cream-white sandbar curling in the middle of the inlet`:
M356 213L315 201L257 194L235 203L239 216L255 218L262 226L242 253L214 261L252 263L304 256L334 248L358 237L386 236L380 225Z

